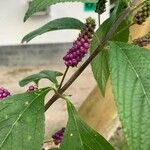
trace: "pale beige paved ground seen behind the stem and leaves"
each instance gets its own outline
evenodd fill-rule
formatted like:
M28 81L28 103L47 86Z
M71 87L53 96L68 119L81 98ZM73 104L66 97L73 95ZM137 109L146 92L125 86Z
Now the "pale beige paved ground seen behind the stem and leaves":
M0 86L3 86L11 91L11 93L20 93L26 91L27 87L20 88L18 81L22 78L37 73L43 69L58 70L63 72L64 66L39 66L39 67L0 67ZM70 69L66 79L76 70ZM47 80L40 82L40 86L48 85ZM68 94L73 95L72 100L77 108L80 107L82 102L88 96L88 94L95 87L96 82L92 76L90 67L88 67L83 74L71 85L67 90ZM58 100L55 104L46 112L46 134L45 139L48 140L56 130L65 126L67 120L66 105L63 101Z

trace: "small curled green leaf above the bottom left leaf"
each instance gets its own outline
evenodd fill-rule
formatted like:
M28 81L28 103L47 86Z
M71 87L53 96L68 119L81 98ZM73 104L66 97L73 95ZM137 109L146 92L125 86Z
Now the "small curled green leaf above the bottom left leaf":
M43 70L37 74L33 74L33 75L30 75L30 76L24 78L23 80L21 80L19 82L19 85L21 87L23 87L23 86L29 84L30 82L38 83L39 80L41 80L43 78L49 79L51 82L53 82L54 84L57 85L58 84L57 77L62 76L62 75L63 74L58 71Z

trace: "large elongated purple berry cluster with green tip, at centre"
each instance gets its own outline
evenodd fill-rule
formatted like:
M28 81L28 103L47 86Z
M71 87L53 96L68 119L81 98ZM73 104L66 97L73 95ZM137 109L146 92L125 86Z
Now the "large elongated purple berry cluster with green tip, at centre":
M73 46L69 49L67 54L63 57L67 67L77 66L78 63L82 61L82 58L87 54L95 26L94 19L91 17L86 19L86 23L84 28L81 30L79 37L73 43Z

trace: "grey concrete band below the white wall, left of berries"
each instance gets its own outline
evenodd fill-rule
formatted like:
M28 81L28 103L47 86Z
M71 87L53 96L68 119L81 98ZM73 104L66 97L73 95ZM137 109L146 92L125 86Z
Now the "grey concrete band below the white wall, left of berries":
M40 66L63 64L70 43L0 47L0 66Z

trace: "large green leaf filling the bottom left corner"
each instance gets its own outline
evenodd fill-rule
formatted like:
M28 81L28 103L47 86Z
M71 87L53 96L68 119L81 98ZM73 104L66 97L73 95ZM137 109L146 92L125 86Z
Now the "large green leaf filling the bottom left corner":
M0 102L0 150L41 150L48 91L18 94Z

